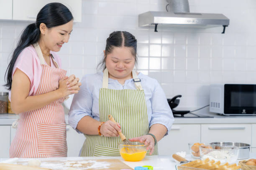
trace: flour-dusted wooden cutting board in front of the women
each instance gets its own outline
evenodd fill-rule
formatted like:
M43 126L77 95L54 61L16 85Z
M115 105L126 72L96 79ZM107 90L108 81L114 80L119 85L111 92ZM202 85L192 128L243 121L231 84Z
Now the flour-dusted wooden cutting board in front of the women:
M17 164L28 165L28 162L18 162ZM67 170L68 168L77 170L133 170L118 159L41 161L40 167L52 170Z

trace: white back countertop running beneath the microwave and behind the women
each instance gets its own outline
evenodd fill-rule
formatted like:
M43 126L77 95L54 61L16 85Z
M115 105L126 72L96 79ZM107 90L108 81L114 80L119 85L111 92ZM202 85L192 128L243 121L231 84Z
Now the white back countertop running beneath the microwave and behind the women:
M256 123L256 116L223 116L213 113L207 113L207 115L214 117L175 117L174 124ZM65 116L66 123L68 124L68 115ZM0 125L12 125L16 119L18 119L18 115L15 114L0 114Z

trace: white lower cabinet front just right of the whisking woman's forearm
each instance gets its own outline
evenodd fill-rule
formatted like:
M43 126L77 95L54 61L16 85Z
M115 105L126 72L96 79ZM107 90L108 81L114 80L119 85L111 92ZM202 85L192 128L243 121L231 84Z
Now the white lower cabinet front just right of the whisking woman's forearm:
M158 143L159 155L172 155L180 151L189 154L188 143L200 142L199 124L174 124L169 132Z

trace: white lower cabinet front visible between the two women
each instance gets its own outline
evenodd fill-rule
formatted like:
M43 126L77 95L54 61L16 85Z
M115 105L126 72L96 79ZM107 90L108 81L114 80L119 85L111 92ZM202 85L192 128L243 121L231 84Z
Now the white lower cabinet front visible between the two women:
M77 133L70 125L67 125L68 157L79 156L79 151L84 143L84 134Z

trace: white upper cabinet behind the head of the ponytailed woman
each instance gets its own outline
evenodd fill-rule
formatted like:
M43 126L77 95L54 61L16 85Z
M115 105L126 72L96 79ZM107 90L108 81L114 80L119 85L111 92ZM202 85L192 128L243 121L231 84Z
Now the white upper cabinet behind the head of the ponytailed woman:
M82 21L82 0L13 0L13 20L36 21L38 12L50 2L61 2L71 11L74 22Z

